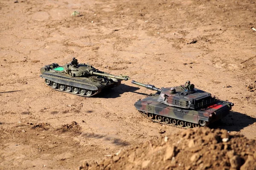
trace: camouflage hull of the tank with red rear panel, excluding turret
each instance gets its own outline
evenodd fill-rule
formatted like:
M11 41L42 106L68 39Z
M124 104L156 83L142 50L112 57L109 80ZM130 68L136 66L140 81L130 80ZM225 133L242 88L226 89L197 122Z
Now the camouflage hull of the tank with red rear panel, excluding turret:
M175 123L180 127L208 126L230 113L229 102L218 100L204 109L192 110L167 106L157 101L159 95L148 96L137 101L137 110L146 113L150 119L157 119L167 124ZM166 119L167 118L167 119ZM174 121L172 122L172 120ZM178 124L181 122L180 124ZM182 123L183 122L183 123Z

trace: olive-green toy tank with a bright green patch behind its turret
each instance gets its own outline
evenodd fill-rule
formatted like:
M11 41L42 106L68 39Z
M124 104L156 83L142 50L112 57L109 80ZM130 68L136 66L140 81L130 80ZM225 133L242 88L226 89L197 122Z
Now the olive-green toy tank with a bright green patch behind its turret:
M129 79L127 76L101 72L89 64L78 63L76 58L64 66L57 63L44 66L41 73L40 77L45 78L45 83L53 89L83 97L96 95L102 89L118 86L121 80Z

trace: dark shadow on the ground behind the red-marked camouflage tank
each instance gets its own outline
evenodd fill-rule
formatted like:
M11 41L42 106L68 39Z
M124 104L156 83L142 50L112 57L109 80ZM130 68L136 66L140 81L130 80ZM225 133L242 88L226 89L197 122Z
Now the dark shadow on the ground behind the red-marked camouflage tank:
M247 127L254 122L256 122L256 118L239 112L231 111L229 115L222 118L221 122L215 122L210 127L239 132L240 130L244 129L244 127Z

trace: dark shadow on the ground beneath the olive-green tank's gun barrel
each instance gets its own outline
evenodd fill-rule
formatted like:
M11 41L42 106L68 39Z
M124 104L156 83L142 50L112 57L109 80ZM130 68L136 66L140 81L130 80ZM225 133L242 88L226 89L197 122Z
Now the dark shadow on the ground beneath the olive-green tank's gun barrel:
M100 92L98 95L95 95L97 98L117 98L120 97L121 94L125 92L133 92L140 95L148 95L145 93L139 93L135 92L140 88L134 87L134 86L128 86L126 84L120 84L119 86L113 88L113 89L105 89L102 92Z

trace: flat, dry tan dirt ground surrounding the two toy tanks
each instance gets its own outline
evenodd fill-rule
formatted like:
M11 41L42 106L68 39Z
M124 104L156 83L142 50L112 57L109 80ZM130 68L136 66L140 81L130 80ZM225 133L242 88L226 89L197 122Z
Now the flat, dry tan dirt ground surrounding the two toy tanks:
M131 81L81 98L39 78L73 57L157 87L190 80L235 104L215 128L256 138L254 0L1 0L0 11L0 169L75 169L187 131L142 117L133 104L151 91Z

